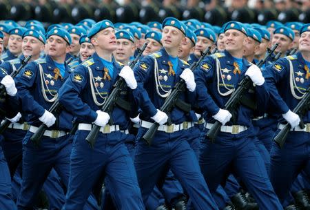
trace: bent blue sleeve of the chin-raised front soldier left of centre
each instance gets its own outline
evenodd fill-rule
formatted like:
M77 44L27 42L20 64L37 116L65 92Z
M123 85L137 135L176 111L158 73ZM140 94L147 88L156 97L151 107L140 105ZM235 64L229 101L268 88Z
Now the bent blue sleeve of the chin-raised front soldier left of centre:
M81 117L87 120L88 123L92 123L96 120L97 113L79 97L82 90L89 86L87 78L87 68L84 66L76 67L59 89L59 102L72 115Z

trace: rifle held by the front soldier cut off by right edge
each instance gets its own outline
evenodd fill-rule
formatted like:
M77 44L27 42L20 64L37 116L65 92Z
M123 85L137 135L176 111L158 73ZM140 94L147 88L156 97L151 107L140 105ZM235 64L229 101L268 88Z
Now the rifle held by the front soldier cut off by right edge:
M309 110L309 104L310 104L310 86L306 90L304 97L302 97L301 101L297 104L297 106L293 109L293 113L296 113L300 116L302 116L302 113ZM300 117L302 119L302 117ZM304 122L300 122L299 124L300 128L304 128ZM289 134L289 131L291 130L291 125L287 123L285 127L276 135L276 137L273 138L273 140L280 146L280 148L283 147L285 144L285 141L287 140L287 134Z

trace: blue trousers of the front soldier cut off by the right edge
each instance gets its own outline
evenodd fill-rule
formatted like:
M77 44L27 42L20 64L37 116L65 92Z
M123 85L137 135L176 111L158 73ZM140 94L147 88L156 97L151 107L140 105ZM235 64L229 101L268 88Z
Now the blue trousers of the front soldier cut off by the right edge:
M310 133L289 131L282 149L278 147L276 142L273 142L269 176L282 204L284 204L285 199L289 196L289 190L298 174L303 170L309 177L309 154Z

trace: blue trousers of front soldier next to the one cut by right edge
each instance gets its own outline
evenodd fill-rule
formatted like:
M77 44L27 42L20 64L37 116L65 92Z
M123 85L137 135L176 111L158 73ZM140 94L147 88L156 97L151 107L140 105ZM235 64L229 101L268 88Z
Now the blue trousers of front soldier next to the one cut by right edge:
M220 132L214 143L205 139L201 142L201 171L211 192L233 173L242 180L260 209L282 209L254 138L250 136L249 129L236 135Z

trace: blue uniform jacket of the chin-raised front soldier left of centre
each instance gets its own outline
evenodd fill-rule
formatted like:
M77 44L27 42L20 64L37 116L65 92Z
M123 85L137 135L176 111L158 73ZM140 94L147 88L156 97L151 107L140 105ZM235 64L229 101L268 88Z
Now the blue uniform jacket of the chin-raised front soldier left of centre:
M77 66L70 78L63 84L63 87L59 90L59 102L65 106L74 116L78 117L79 122L92 123L96 120L96 111L101 109L101 106L97 106L94 103L92 92L90 88L90 73L88 68L92 70L94 75L94 82L96 88L99 90L101 97L107 97L113 90L114 83L118 80L121 68L123 64L116 61L114 64L114 73L112 79L103 79L104 71L102 61L100 57L94 53L90 59L84 61L81 65ZM130 98L130 90L126 88L122 91L121 96L127 101ZM103 102L103 99L96 94L96 99L99 103ZM132 96L131 96L132 97ZM118 124L122 130L125 130L130 125L130 113L116 106L110 117L114 124Z

